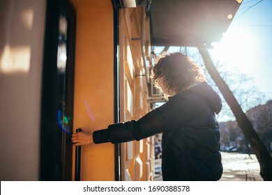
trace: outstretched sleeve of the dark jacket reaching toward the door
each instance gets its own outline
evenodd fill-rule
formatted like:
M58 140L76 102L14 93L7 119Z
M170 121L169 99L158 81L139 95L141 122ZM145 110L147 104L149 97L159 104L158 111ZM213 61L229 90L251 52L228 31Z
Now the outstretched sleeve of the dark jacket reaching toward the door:
M175 98L176 99L176 98ZM150 137L160 132L175 130L186 125L194 111L192 104L184 100L169 100L158 109L150 111L139 120L109 125L106 130L93 132L94 143L123 143ZM194 110L194 109L192 109Z

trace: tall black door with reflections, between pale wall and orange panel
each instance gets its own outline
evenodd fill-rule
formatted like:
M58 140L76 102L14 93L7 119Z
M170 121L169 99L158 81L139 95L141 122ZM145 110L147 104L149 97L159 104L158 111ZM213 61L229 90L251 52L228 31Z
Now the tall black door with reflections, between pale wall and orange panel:
M40 180L72 180L76 14L68 0L48 0L40 121Z

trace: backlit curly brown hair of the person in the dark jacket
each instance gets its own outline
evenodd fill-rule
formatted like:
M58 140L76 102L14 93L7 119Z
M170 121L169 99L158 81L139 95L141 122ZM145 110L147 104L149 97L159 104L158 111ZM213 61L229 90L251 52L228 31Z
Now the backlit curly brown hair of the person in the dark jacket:
M196 82L205 81L204 74L197 64L181 53L163 54L159 56L151 70L151 79L158 86L158 79L164 77L163 84L169 91L180 93Z

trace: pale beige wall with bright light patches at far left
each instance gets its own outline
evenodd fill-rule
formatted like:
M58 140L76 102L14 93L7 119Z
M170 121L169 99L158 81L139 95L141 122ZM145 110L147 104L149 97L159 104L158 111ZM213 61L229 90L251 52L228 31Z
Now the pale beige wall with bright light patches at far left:
M0 1L0 180L38 180L45 0Z

